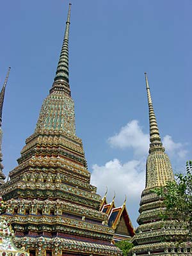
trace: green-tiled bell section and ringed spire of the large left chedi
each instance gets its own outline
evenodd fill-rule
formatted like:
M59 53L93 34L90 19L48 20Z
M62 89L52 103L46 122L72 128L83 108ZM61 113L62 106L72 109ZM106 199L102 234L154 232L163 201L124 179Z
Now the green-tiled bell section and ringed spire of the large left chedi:
M70 26L70 7L65 27L65 35L60 60L54 77L54 83L44 100L40 116L36 124L37 130L63 131L76 135L74 101L70 97L68 84L68 35Z

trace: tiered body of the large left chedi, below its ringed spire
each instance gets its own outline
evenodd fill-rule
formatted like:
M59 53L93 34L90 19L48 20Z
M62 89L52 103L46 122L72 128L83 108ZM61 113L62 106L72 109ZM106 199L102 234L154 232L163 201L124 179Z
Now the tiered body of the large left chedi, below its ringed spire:
M31 255L122 255L111 244L108 216L99 211L72 108L70 96L60 92L45 99L19 166L1 187L8 203L3 215L15 230L15 244Z

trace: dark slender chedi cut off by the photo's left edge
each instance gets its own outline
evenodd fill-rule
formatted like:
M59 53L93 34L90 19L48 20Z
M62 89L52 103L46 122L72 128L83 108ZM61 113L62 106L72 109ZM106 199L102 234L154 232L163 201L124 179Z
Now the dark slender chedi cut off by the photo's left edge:
M2 113L3 113L3 102L4 102L4 93L5 93L5 88L6 88L6 84L8 81L8 77L10 74L10 67L8 68L8 72L6 74L6 78L4 80L4 84L3 87L1 89L1 93L0 93L0 185L2 185L4 183L4 179L5 179L5 175L3 174L3 164L1 163L3 161L3 155L2 155L2 129L1 129L1 122L2 122Z

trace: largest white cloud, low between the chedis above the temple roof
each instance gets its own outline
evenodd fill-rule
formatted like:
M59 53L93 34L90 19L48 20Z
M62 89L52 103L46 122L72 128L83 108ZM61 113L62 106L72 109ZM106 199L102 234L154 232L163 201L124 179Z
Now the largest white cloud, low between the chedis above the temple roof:
M132 160L122 164L118 159L113 159L104 166L94 164L92 168L91 183L97 186L97 193L103 196L107 186L110 201L115 191L116 206L124 203L126 195L127 210L131 215L133 225L136 225L141 191L145 188L145 161Z

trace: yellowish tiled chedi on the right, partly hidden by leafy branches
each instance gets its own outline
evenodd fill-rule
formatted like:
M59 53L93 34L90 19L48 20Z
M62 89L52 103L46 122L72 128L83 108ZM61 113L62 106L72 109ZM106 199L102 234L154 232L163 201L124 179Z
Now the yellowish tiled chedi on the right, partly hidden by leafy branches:
M139 227L132 240L135 247L130 255L192 255L191 243L187 239L186 223L171 218L162 220L163 199L152 191L154 188L165 186L168 181L173 181L174 175L170 159L164 152L159 136L146 73L145 81L148 97L150 147L146 164L145 189L141 194Z

